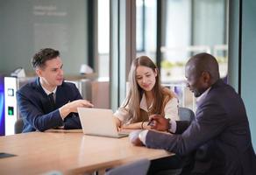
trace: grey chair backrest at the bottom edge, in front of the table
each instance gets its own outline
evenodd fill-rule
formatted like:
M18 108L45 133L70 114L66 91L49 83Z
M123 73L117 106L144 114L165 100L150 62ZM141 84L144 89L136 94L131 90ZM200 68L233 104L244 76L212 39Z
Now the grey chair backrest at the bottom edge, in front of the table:
M150 161L141 159L129 165L121 165L106 172L105 175L146 175Z

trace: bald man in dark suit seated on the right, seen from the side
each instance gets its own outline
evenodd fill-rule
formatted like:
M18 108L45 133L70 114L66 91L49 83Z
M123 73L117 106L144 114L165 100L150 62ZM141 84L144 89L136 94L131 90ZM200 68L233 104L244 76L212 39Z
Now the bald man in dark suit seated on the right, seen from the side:
M196 119L188 123L152 116L154 130L174 134L144 130L132 143L192 155L181 174L256 174L244 102L220 80L217 60L208 53L196 54L188 60L185 76L197 97Z

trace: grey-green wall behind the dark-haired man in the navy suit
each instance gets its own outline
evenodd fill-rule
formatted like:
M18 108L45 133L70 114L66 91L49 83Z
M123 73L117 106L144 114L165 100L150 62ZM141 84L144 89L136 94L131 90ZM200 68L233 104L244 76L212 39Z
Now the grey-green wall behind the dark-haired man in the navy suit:
M0 0L0 72L32 72L40 48L60 50L66 74L87 63L87 0Z

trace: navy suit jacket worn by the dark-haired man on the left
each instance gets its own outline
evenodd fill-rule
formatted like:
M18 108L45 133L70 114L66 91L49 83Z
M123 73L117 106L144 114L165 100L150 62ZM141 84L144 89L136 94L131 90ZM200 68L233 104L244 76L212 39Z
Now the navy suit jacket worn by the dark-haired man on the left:
M56 109L52 109L48 96L39 83L39 78L26 84L17 92L18 108L24 121L23 132L44 131L63 126L64 129L81 129L77 113L70 113L64 121L59 108L68 102L82 99L75 84L64 82L56 90Z

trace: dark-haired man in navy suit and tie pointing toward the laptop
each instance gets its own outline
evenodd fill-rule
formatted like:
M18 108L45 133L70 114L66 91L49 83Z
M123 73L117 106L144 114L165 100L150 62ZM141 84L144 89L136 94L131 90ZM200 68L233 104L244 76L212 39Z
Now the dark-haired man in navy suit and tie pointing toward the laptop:
M32 57L32 66L39 78L17 92L23 132L81 129L77 108L93 105L82 100L75 84L63 81L60 52L42 49Z

